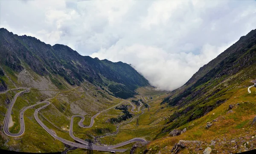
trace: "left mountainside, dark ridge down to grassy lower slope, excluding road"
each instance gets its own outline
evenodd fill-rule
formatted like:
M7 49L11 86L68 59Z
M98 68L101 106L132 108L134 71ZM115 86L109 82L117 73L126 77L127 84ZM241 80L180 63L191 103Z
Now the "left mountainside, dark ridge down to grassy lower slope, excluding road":
M2 28L0 149L37 153L70 152L71 149L76 149L52 138L35 120L35 108L40 107L36 103L44 100L50 104L40 111L40 120L65 140L75 142L69 134L70 118L73 115L84 116L84 125L90 125L91 117L99 113L90 128L81 128L77 125L79 118L74 119L73 131L76 137L82 140L92 139L100 145L118 144L134 137L146 137L147 135L138 135L139 133L129 137L122 135L123 138L119 137L116 143L101 138L119 134L117 132L123 133L120 125L130 123L141 114L131 111L131 104L123 101L134 99L130 97L135 97L134 95L139 93L137 89L142 86L152 88L148 80L126 63L81 56L68 46L51 46L35 37L17 36ZM3 131L4 119L15 94L24 88L30 90L17 97L12 108L12 125L9 125L9 131L17 134L21 127L20 111L27 106L36 106L24 112L24 134L10 137ZM113 106L116 108L111 108ZM111 109L106 110L108 108ZM125 133L131 134L131 130ZM125 148L131 147L129 144ZM84 149L78 150L84 153Z

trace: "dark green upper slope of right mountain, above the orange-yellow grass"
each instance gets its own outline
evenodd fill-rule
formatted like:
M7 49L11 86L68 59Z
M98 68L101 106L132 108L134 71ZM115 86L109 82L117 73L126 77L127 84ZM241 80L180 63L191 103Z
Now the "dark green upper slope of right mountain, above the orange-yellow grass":
M178 110L169 116L169 126L162 133L204 116L229 99L232 89L255 78L256 30L252 30L163 100L161 104L168 103Z

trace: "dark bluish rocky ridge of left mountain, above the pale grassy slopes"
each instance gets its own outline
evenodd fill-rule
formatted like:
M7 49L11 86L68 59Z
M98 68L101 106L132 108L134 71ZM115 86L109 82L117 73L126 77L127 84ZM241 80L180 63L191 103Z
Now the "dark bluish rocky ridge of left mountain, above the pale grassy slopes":
M136 88L149 85L148 80L126 63L81 56L68 46L51 46L35 37L18 36L3 28L0 29L0 55L3 72L19 73L27 66L38 75L51 78L57 87L61 87L60 78L71 86L79 86L87 80L116 97L128 98L136 94ZM3 91L7 87L1 70L0 91Z

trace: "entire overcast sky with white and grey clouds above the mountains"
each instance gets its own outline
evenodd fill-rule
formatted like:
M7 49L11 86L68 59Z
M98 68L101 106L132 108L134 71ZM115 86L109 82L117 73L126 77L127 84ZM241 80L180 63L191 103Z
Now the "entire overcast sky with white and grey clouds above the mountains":
M132 64L173 90L256 29L256 1L0 0L0 27Z

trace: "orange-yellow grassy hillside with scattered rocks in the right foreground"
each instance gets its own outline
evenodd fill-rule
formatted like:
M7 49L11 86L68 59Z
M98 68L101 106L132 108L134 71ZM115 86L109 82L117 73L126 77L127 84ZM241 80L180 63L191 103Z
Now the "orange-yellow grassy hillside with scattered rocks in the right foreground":
M198 140L200 144L188 143L180 148L177 153L202 153L205 148L212 148L212 153L238 153L255 149L255 124L253 118L256 116L256 88L251 88L248 94L247 86L252 85L250 80L228 91L230 98L220 106L214 108L203 117L185 123L178 130L186 128L187 131L178 136L161 134L159 139L148 144L151 149L148 153L155 154L172 153L175 143L180 140ZM230 105L233 106L230 109ZM229 113L229 111L231 111ZM212 125L206 128L207 123ZM212 141L214 141L214 144ZM248 142L248 143L247 143Z

